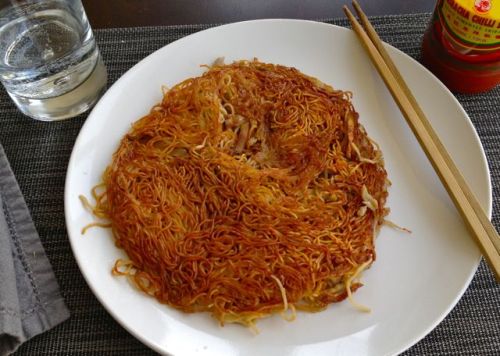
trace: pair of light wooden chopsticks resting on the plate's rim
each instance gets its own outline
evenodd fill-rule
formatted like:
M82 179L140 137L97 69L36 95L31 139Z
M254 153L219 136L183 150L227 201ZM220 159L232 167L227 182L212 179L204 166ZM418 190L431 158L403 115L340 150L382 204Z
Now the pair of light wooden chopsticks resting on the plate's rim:
M352 29L356 32L406 122L441 179L441 183L455 203L476 244L495 273L497 281L500 282L500 238L498 233L401 77L372 24L356 0L353 1L352 5L363 25L360 25L349 8L344 5L344 12L351 22Z

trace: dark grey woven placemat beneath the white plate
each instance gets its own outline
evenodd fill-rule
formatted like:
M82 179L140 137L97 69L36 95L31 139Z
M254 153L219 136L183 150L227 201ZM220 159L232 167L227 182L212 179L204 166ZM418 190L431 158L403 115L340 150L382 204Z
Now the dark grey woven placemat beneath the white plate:
M419 57L429 14L372 18L386 42ZM326 21L346 26L345 20ZM207 25L97 30L109 84L156 49ZM458 96L481 137L493 181L493 222L500 227L500 88ZM23 345L17 355L153 354L121 328L85 283L70 249L64 221L64 180L74 141L87 114L43 123L20 114L0 90L0 142L19 181L71 318ZM0 281L1 283L1 281ZM0 284L1 286L1 284ZM418 298L418 296L415 296ZM154 326L152 326L154 327ZM500 287L484 263L449 316L406 355L499 355Z

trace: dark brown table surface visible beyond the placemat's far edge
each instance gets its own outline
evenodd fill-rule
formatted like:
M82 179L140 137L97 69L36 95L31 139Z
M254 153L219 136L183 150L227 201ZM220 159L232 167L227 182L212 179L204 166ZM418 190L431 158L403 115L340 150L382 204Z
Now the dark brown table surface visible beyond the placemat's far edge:
M436 0L359 0L367 15L431 12ZM93 28L343 17L347 0L83 0Z

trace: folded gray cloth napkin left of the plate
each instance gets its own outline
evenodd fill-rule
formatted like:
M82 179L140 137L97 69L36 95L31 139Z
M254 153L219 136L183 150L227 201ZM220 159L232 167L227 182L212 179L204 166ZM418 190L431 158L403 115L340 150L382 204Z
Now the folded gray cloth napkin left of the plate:
M0 145L0 356L69 317Z

